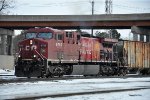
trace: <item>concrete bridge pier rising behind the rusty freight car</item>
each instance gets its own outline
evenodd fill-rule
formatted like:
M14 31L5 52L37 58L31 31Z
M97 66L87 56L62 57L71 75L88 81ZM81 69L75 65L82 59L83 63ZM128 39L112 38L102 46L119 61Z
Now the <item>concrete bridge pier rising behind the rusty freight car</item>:
M133 33L133 38L134 38L134 34L140 34L140 41L144 41L144 35L146 35L146 42L150 42L150 29L132 26L131 32Z

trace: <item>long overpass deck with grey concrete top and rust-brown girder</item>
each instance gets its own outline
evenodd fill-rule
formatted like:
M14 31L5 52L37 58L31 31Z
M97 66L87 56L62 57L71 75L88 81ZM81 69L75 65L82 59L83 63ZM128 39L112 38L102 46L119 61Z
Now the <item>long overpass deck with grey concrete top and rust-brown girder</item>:
M131 29L131 26L150 28L149 14L111 15L1 15L0 27L27 29L30 27L54 27L63 29Z

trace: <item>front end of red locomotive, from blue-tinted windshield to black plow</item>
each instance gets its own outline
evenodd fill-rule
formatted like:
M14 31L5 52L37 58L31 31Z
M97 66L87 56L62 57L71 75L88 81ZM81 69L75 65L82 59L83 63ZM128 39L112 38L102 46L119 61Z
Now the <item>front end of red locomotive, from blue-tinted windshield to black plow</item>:
M53 38L53 32L30 29L25 31L25 39L19 42L19 55L15 66L18 77L42 76L48 58L48 41Z

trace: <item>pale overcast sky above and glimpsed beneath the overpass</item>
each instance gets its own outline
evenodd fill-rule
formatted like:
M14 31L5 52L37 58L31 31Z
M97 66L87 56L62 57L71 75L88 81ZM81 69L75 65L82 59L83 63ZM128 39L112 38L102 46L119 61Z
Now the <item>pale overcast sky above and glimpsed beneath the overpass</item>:
M92 0L15 0L14 15L90 15ZM112 14L150 13L150 0L112 0ZM105 14L105 0L94 0L94 14ZM118 30L127 38L130 30Z

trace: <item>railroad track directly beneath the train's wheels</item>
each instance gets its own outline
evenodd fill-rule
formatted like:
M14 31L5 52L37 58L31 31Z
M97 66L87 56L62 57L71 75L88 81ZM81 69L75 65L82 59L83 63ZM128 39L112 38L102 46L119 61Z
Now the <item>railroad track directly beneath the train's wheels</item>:
M9 76L8 76L9 77ZM17 83L17 82L37 82L37 81L55 81L55 80L70 80L70 79L94 79L94 78L141 78L150 77L150 75L127 75L127 76L63 76L54 78L12 78L12 79L0 79L0 84Z

